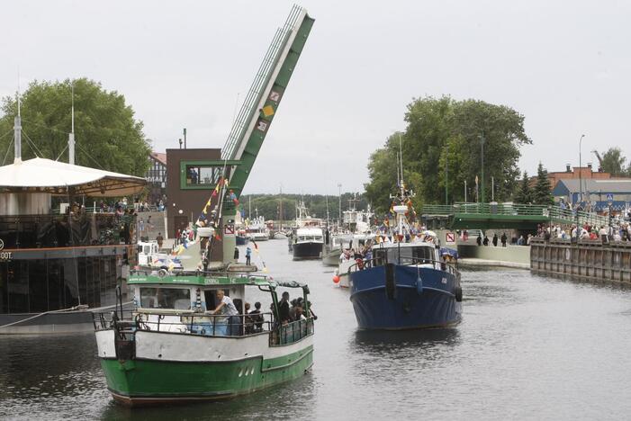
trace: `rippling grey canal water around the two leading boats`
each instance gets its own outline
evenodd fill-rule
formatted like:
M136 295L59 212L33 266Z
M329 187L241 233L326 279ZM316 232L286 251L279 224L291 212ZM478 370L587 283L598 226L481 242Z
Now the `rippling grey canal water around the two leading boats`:
M244 255L242 252L241 255ZM524 270L463 272L457 327L356 328L320 261L260 243L276 279L308 282L312 372L244 398L167 408L113 403L93 335L0 336L0 418L607 419L631 414L631 290ZM253 261L260 264L255 253ZM264 304L265 305L265 304Z

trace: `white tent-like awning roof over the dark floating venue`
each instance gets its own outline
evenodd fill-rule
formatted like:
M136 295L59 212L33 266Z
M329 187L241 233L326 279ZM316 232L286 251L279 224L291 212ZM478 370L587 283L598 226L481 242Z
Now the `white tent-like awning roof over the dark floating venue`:
M87 166L33 158L0 166L0 192L51 193L93 197L127 196L140 193L147 181L142 177L112 173Z

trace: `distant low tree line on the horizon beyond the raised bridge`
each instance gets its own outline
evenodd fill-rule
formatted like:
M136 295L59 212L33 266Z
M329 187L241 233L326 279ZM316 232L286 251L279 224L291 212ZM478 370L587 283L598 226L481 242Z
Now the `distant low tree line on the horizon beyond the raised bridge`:
M357 202L355 207L357 210L366 210L368 203L364 194L360 193L342 193L342 211L347 210L349 199L353 199L356 195ZM245 211L246 218L250 215L249 205L251 200L252 218L258 215L265 219L279 218L280 197L278 194L244 194L239 198L239 210ZM329 219L338 219L339 215L339 196L324 196L322 194L285 194L283 193L283 220L292 220L296 218L296 204L301 200L309 210L312 217L326 219L327 218L327 199L329 201Z

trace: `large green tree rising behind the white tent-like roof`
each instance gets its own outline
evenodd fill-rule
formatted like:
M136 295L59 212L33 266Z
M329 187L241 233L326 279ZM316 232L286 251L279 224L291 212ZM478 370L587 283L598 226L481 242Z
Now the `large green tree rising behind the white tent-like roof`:
M68 132L74 86L76 164L101 167L118 173L144 176L149 168L149 139L142 121L122 94L105 91L86 79L63 82L32 82L21 96L23 121L22 158L45 157L68 162ZM0 109L0 135L10 133L17 114L15 98L5 97ZM13 162L12 137L0 139L5 164ZM33 148L34 144L36 148Z

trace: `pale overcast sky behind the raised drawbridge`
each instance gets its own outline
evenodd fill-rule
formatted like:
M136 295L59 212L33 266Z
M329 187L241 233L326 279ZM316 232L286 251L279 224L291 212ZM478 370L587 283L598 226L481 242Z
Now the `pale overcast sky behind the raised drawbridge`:
M125 95L153 148L221 148L293 2L3 4L0 96L18 81L83 77ZM591 150L631 157L631 2L301 3L316 22L244 193L362 191L370 154L406 105L451 95L508 105L549 171ZM77 122L79 124L80 122ZM492 165L490 163L489 165ZM431 171L428 168L428 171Z

